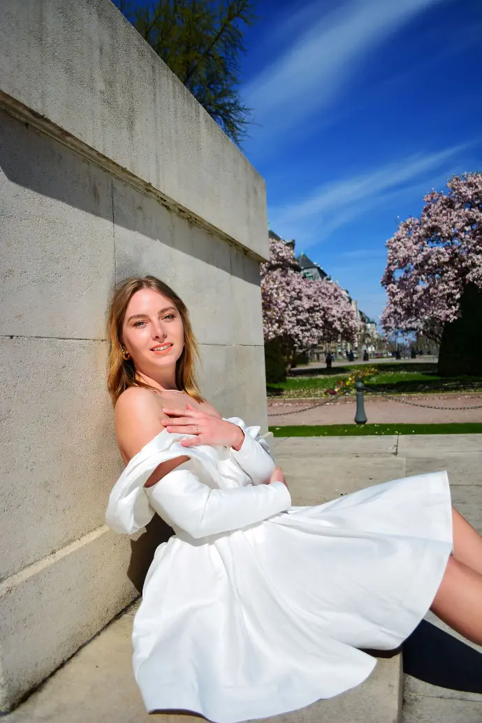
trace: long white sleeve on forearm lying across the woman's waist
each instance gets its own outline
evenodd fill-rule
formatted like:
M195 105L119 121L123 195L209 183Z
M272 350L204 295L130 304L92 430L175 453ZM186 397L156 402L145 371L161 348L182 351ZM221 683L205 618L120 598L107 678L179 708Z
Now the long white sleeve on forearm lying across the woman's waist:
M291 507L283 482L211 489L182 468L169 472L145 492L160 517L195 538L241 529Z

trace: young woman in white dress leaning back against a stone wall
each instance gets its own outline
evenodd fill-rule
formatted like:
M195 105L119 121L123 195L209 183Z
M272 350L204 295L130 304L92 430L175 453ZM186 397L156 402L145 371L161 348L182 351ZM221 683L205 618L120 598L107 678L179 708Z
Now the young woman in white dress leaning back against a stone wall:
M152 276L116 289L108 387L126 462L106 520L160 544L134 618L147 711L271 716L361 683L432 610L482 643L482 538L445 472L292 507L259 427L223 419L194 376L186 307ZM232 380L233 384L236 380Z

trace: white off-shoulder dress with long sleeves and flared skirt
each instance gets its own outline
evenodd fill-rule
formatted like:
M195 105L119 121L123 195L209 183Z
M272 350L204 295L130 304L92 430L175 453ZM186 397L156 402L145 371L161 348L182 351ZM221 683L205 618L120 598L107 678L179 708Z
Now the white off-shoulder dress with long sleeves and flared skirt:
M292 507L270 479L259 427L241 450L184 448L161 432L111 492L108 526L133 534L157 512L160 544L134 617L134 675L147 711L216 723L330 698L374 668L420 622L452 552L446 472L395 479ZM189 461L145 488L162 461Z

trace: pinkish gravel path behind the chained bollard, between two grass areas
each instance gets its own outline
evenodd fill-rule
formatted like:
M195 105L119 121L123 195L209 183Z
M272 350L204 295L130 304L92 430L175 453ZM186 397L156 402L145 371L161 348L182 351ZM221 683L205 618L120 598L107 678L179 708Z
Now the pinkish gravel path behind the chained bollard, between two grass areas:
M369 424L482 422L482 394L421 394L400 397L400 399L404 399L410 404L387 398L365 397L365 411ZM315 404L320 406L313 408ZM415 405L427 405L428 407ZM470 409L471 406L478 406L478 408ZM453 407L462 407L462 409ZM304 409L306 411L303 411ZM336 401L330 399L326 401L326 398L309 401L268 400L268 422L273 427L282 427L286 424L353 424L355 411L354 397L342 397Z

